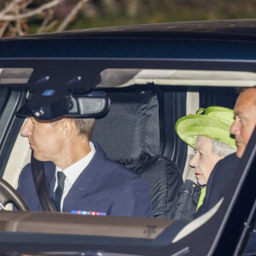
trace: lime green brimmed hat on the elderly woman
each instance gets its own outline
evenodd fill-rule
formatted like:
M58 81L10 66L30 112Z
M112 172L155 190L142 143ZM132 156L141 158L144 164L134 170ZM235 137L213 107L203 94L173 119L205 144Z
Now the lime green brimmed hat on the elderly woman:
M175 130L178 137L191 147L195 147L197 136L205 136L237 148L235 138L230 134L234 121L235 116L230 108L199 108L196 114L178 119Z

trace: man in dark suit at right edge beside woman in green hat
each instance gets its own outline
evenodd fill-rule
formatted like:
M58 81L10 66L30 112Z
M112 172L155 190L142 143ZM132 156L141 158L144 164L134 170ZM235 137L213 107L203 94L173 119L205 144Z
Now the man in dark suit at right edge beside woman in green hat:
M195 213L195 218L200 217L218 203L232 180L233 170L236 170L256 125L256 87L241 92L237 98L234 113L236 119L230 127L230 132L235 135L238 147L236 154L230 154L224 160L218 161L213 168L207 183L207 194L203 205Z

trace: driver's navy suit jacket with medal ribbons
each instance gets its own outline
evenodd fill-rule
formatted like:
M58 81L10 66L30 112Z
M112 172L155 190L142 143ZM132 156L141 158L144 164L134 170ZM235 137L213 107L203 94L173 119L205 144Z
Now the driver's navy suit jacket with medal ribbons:
M96 154L79 175L63 201L62 212L105 212L107 215L152 217L148 185L138 177L109 160L99 145ZM55 165L44 162L50 197L55 187ZM20 173L18 192L32 211L42 211L32 179L31 164Z

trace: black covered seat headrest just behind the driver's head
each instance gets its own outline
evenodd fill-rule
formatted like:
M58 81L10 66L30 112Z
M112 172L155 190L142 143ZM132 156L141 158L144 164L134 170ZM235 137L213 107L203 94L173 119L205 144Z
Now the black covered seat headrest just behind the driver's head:
M160 127L157 96L151 92L108 93L108 114L96 119L92 140L108 157L130 169L159 154Z

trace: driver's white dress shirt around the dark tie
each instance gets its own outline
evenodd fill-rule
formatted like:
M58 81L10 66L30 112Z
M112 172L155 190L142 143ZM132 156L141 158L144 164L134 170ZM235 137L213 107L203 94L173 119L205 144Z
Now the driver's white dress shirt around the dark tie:
M86 154L86 156L84 156L84 158L82 158L78 162L74 163L72 166L68 166L65 170L61 170L61 168L56 166L56 169L55 169L56 170L55 171L55 178L56 178L55 189L58 186L57 172L61 171L61 172L64 172L64 174L66 175L65 184L64 184L64 191L63 191L63 195L62 195L62 198L61 198L61 212L62 212L62 207L63 207L63 201L64 201L68 191L71 189L71 187L73 186L73 183L79 177L81 172L84 171L84 168L89 165L90 160L92 160L95 153L96 153L96 149L95 149L93 143L90 142L90 153ZM54 189L54 191L55 191L55 189Z

